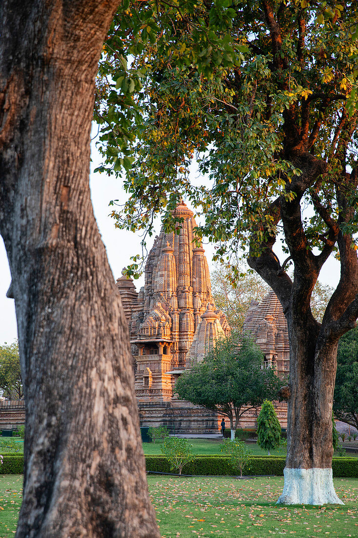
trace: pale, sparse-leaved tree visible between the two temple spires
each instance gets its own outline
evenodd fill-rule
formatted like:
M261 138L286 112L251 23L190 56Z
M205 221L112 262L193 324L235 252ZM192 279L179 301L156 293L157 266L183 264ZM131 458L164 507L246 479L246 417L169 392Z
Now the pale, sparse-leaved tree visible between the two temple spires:
M211 291L230 327L241 332L251 301L261 301L270 288L257 273L250 274L240 266L235 268L239 272L237 281L233 279L233 267L218 264L211 275Z

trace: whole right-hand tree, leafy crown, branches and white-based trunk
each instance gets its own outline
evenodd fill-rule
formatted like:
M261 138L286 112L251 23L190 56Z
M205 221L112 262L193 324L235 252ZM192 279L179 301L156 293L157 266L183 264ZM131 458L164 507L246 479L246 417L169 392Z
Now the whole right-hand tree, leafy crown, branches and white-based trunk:
M170 29L154 32L150 43L140 32L116 34L121 54L133 54L131 68L141 70L142 90L133 97L143 113L132 131L128 200L113 207L113 217L119 226L151 231L161 212L166 227L178 230L173 210L185 195L203 215L198 238L219 243L216 259L232 263L231 254L245 253L288 322L292 473L279 501L337 502L332 478L321 489L312 482L314 494L305 498L310 488L297 484L295 470L307 469L314 481L312 469L324 474L331 466L332 443L319 440L332 438L338 340L358 317L356 2L233 0L229 24L216 22L219 37L212 35L218 6L229 4L197 3L189 17L171 4ZM152 7L159 25L162 11L169 13L140 6ZM127 8L134 19L137 4ZM205 46L193 54L197 25L206 25ZM110 172L118 151L103 142L101 169ZM202 179L191 181L194 157ZM320 322L311 296L331 254L340 260L340 281Z

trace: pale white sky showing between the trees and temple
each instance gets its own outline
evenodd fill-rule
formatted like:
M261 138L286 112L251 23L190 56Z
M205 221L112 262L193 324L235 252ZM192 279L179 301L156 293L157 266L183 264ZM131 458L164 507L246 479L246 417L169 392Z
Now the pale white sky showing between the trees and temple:
M106 246L108 259L112 268L115 279L120 277L123 267L131 263L130 257L141 252L140 236L132 232L119 230L114 228L114 221L109 217L111 208L108 207L110 200L124 199L125 193L121 188L121 181L114 177L109 177L105 174L94 174L92 170L98 166L101 158L92 143L92 163L90 174L90 188L94 212L97 219L99 231L102 235L102 240ZM158 232L160 222L157 224ZM148 238L147 249L151 248L154 237ZM212 244L204 244L209 268L212 270L212 256L214 247ZM285 254L275 251L281 262L285 259ZM330 284L335 287L339 280L339 263L333 258L328 259L320 273L320 281L323 284ZM6 257L3 240L0 241L0 345L4 342L11 343L17 338L17 325L15 316L15 302L13 299L6 298L6 292L10 285L10 270L8 259ZM143 277L134 281L134 284L139 289L144 283Z

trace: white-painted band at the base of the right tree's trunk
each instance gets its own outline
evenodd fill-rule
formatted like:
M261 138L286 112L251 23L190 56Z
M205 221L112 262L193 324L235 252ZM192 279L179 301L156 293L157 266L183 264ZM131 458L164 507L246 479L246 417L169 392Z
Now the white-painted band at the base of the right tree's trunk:
M277 504L344 504L336 495L332 469L283 470L284 486Z

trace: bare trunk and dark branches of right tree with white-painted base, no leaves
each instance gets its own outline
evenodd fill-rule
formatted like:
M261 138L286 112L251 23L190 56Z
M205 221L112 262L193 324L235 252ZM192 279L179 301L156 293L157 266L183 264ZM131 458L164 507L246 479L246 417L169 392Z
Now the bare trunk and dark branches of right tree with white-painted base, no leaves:
M282 31L273 3L261 0L273 52L273 72L283 74L289 58L282 53ZM304 66L305 15L298 15L297 59ZM289 81L281 76L281 89L289 88ZM335 99L341 95L313 94L312 100L321 99L324 114ZM326 90L325 90L326 91ZM302 171L287 186L295 196L293 200L280 196L273 202L270 215L274 224L282 222L285 241L293 261L293 281L284 272L284 265L275 256L272 247L276 237L269 232L262 244L259 257L251 256L249 265L274 289L287 318L290 341L290 383L288 400L288 450L284 470L284 490L278 502L287 504L340 503L332 480L332 405L336 373L338 341L346 331L353 328L358 317L358 260L352 248L353 237L346 223L354 220L349 207L349 193L357 188L356 169L346 171L347 147L355 130L356 118L349 119L341 113L336 136L325 155L326 160L314 157L311 148L318 137L321 122L310 119L310 99L300 107L293 104L283 114L283 157ZM328 159L334 155L341 162L340 178L335 179L332 191L338 207L335 218L330 204L320 200L322 178L328 170ZM355 163L356 165L356 163ZM329 183L329 180L328 180ZM325 224L320 237L324 244L314 254L305 234L301 214L301 201L309 192L316 214ZM264 224L263 224L264 228ZM311 312L310 300L321 267L338 245L341 275L325 311L322 323Z

